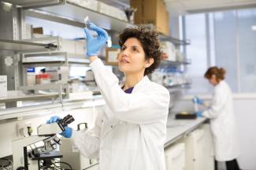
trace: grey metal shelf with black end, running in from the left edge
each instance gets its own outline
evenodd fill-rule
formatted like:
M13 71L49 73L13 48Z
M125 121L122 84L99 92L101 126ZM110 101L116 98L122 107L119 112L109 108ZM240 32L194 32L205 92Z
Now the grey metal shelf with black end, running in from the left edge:
M39 52L56 49L57 45L53 44L42 44L35 42L24 42L24 41L16 41L16 40L6 40L0 39L0 49L2 50L12 50L18 53L24 52Z

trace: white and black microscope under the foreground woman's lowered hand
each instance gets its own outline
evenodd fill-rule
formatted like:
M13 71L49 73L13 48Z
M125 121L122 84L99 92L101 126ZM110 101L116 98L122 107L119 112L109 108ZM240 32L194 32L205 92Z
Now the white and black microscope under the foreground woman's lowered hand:
M13 169L48 169L55 167L55 158L63 157L56 149L61 139L56 134L65 131L65 126L75 121L71 115L59 122L42 124L37 127L36 136L13 140Z

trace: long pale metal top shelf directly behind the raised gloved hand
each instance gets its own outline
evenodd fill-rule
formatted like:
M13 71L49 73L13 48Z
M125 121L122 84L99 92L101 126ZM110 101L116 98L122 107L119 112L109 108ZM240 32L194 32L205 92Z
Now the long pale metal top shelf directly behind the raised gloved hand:
M87 9L83 6L72 4L71 2L65 2L65 5L50 6L38 10L27 10L25 14L27 16L69 24L76 27L84 27L83 19L85 16L89 16L90 20L99 27L117 32L123 31L125 27L137 27L124 20L98 13L97 11Z

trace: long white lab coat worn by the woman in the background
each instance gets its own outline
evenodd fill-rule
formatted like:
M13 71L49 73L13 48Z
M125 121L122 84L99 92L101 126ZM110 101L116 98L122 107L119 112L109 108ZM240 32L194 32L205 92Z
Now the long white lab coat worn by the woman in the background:
M210 118L214 153L217 161L231 161L239 155L232 92L225 81L215 86L213 103L202 116Z

